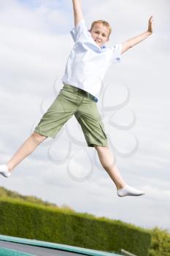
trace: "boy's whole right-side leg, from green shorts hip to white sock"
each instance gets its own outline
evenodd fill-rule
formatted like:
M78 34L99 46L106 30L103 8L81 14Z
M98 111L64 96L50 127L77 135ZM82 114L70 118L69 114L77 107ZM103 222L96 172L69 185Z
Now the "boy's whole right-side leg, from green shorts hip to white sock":
M82 132L85 135L88 146L96 148L101 165L107 170L112 181L114 181L117 187L117 195L120 197L125 195L144 195L144 192L128 186L123 181L122 176L120 176L112 153L109 151L107 135L104 132L104 123L98 112L96 102L85 97L78 112L75 113L75 117L82 127Z

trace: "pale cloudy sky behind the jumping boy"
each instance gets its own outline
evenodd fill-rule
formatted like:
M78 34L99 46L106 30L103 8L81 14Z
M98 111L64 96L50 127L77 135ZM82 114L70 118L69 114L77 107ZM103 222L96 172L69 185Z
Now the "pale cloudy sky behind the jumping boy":
M112 26L108 47L147 31L152 36L109 67L97 105L109 148L126 183L141 197L117 197L95 148L74 116L0 186L58 206L170 232L169 0L82 0L87 26ZM0 164L31 135L57 97L74 42L70 0L0 0Z

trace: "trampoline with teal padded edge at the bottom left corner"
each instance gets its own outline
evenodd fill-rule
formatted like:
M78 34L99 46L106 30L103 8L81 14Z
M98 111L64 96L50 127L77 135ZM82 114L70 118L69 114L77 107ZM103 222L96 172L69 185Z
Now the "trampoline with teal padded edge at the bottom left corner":
M17 238L0 235L1 256L116 256L110 252L86 249L66 244L55 244L46 241ZM118 255L119 256L119 255Z

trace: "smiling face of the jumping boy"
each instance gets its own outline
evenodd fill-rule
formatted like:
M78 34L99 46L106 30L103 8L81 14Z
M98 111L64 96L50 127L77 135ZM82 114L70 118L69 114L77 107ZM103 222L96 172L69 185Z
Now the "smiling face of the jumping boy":
M96 23L90 33L99 47L109 41L109 28L104 26L102 23Z

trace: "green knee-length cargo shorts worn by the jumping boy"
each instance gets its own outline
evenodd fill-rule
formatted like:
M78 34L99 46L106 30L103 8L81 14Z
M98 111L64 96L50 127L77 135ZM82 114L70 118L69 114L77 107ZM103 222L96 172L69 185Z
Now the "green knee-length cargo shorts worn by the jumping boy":
M42 116L34 132L55 138L73 115L82 128L88 146L108 146L104 124L92 95L69 84L63 85L63 89Z

